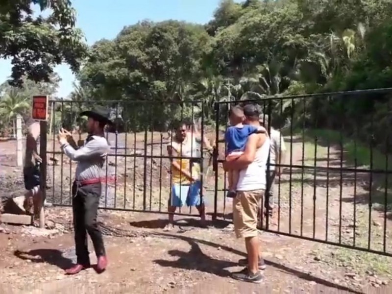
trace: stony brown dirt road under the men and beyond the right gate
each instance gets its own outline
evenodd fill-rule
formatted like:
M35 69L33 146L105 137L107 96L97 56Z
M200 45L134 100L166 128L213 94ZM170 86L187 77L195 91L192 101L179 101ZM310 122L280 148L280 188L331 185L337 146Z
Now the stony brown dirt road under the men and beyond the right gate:
M305 160L312 160L311 152L307 151L312 150L312 146L305 147ZM334 152L334 156L337 156L336 153L339 152ZM301 161L302 157L298 154L302 154L302 144L294 143L293 164ZM333 159L336 161L334 157L330 158L330 162ZM136 164L140 166L141 163ZM326 162L320 160L318 164L322 166ZM17 171L15 168L8 169ZM153 172L153 176L156 176L159 171L153 169ZM274 225L277 219L271 220L270 228L288 231L291 223L293 234L300 235L302 232L311 237L315 232L316 237L325 238L325 225L328 223L330 240L339 240L337 225L339 226L343 215L343 228L346 227L343 233L347 235L347 240L350 240L350 236L356 236L357 242L367 240L364 231L359 229L361 223L358 224L357 235L353 233L353 227L349 226L353 221L353 209L349 201L343 203L340 213L339 185L330 185L327 194L325 182L322 182L326 176L316 175L318 182L315 193L312 172L304 173L302 186L298 184L302 182L302 172L292 171L290 175L290 171L286 171L280 179L279 228ZM334 177L336 183L336 176L328 175L331 183ZM352 181L345 183L342 190L344 197L347 197L352 195L353 187ZM207 186L213 187L213 183L209 182ZM330 205L328 215L327 195ZM163 193L161 197L158 202L163 205L166 196ZM206 192L206 197L212 199L211 192ZM219 212L223 212L222 193L219 203ZM230 213L230 204L226 203L226 206L226 213ZM165 209L165 206L162 207ZM366 203L357 206L358 211L366 207ZM314 214L317 216L315 221ZM392 281L390 258L266 232L260 235L263 256L268 265L264 272L265 282L261 285L237 282L230 278L230 272L240 269L237 261L245 256L245 248L242 241L234 239L230 221L210 222L208 229L202 229L197 228L195 220L181 220L184 218L178 217L176 229L167 234L162 230L166 220L164 215L119 211L103 211L100 215L106 234L110 263L108 270L100 275L90 269L77 276L65 276L63 269L75 259L70 228L71 211L65 207L50 208L47 210L47 219L51 230L1 225L0 293L247 294L392 291L389 288ZM361 218L358 217L358 220ZM380 219L375 219L374 223L380 223ZM382 228L373 226L375 230ZM380 239L375 243L378 242ZM94 252L92 260L94 261Z

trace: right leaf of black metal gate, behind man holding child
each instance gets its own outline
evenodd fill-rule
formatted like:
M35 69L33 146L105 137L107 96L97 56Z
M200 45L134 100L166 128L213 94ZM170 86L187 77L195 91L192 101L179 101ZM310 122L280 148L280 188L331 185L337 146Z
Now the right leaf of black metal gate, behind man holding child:
M272 216L262 229L281 235L392 256L392 89L218 102L214 215L229 218L220 163L229 105L254 103L271 142L284 140L275 171ZM387 105L387 106L385 106ZM392 106L392 105L391 105ZM276 172L280 171L280 172ZM274 185L273 185L274 183ZM268 186L268 184L267 184ZM264 216L264 205L262 205Z

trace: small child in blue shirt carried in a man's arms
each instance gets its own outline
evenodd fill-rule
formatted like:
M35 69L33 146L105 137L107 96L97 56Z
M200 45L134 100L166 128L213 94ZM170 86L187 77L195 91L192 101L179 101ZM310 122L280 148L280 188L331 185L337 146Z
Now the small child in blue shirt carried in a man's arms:
M244 110L240 106L234 106L230 109L230 125L224 135L226 141L226 161L232 161L244 153L245 145L249 135L254 133L266 133L267 130L260 126L243 124L245 120ZM228 171L229 191L227 197L236 196L236 188L239 178L239 171Z

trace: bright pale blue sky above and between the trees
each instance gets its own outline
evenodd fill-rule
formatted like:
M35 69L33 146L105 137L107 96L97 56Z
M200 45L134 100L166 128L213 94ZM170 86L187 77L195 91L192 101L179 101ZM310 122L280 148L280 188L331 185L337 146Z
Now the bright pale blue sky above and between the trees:
M89 45L100 39L113 39L126 25L149 19L168 19L205 24L211 20L220 0L73 0L77 26ZM241 2L241 0L236 0ZM56 67L62 81L58 97L67 97L73 89L74 76L67 65ZM0 83L11 74L9 60L0 59Z

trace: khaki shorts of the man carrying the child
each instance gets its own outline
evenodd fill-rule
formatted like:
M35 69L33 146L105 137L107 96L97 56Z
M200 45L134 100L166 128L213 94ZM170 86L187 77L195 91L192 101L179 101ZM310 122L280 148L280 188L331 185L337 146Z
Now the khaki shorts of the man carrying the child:
M257 237L257 213L264 190L237 191L233 199L233 222L237 238Z

